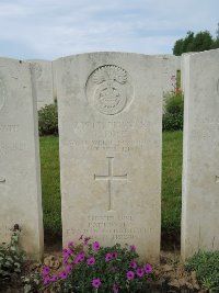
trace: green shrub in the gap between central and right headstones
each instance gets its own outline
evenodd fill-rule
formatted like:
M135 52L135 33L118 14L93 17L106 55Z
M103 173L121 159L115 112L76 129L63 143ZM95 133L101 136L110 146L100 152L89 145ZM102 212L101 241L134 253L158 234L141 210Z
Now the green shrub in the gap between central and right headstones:
M176 88L166 97L163 114L163 131L183 131L183 93Z

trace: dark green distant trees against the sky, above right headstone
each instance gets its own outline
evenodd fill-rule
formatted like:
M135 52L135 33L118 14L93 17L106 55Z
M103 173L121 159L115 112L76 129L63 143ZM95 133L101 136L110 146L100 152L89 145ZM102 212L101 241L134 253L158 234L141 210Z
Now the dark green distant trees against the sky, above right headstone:
M198 32L196 35L193 32L187 32L184 38L180 38L175 42L173 54L181 56L183 53L203 52L218 47L218 38L212 38L208 31Z

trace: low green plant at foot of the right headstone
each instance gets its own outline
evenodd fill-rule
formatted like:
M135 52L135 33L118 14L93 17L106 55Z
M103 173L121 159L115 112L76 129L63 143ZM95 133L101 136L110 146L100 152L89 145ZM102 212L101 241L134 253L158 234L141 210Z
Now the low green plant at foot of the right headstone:
M187 271L196 271L198 282L210 292L219 292L219 251L199 251L187 259Z

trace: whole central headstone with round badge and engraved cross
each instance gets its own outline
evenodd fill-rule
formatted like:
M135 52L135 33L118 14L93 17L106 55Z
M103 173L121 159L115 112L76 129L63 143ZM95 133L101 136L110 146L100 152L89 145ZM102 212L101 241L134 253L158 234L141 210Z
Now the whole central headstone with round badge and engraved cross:
M159 259L162 65L126 53L56 61L64 246L83 234Z

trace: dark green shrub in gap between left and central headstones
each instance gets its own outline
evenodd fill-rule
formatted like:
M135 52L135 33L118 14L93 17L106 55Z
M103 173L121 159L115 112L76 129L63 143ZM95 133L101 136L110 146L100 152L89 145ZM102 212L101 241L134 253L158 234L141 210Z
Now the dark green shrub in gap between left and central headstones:
M58 135L58 109L57 102L45 105L38 111L39 135Z

